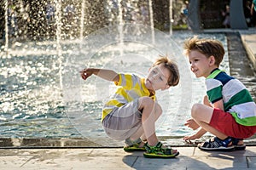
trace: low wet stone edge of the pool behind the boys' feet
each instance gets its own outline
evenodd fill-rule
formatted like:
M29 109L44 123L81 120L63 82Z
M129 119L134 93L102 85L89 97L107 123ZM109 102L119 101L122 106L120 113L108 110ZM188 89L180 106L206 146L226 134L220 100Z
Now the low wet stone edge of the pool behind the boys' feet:
M183 141L183 137L173 136L160 136L158 139L164 144L170 144L173 147L195 147L198 143L205 141L212 136L203 136L202 139L193 141L192 143L186 143ZM101 139L99 139L101 140ZM97 144L86 138L41 138L41 139L27 139L27 138L1 138L0 149L24 149L24 148L122 148L123 142L113 143L112 139L109 139L109 143L104 145ZM256 146L256 135L244 140L244 143L248 146Z

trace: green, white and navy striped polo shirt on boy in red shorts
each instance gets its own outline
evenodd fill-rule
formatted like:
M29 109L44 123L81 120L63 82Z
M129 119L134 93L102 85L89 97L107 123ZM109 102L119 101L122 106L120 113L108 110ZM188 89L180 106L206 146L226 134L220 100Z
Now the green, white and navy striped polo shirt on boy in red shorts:
M256 105L247 88L236 78L216 69L206 79L210 102L224 101L224 111L230 112L236 122L244 126L256 125Z

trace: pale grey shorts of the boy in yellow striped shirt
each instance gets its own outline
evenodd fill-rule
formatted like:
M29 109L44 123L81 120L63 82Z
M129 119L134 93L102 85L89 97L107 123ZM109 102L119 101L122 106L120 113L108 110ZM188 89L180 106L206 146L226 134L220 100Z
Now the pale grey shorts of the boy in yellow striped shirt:
M102 121L110 138L124 140L142 127L142 112L138 111L138 99L113 109Z

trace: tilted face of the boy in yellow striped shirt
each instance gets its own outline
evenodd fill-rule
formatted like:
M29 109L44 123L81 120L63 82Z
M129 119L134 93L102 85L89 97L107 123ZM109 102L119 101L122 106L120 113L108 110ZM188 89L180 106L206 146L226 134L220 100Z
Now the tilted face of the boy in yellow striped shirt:
M164 65L156 65L150 68L148 72L148 76L145 80L146 88L153 91L167 89L170 87L167 81L170 76L170 71L166 69Z

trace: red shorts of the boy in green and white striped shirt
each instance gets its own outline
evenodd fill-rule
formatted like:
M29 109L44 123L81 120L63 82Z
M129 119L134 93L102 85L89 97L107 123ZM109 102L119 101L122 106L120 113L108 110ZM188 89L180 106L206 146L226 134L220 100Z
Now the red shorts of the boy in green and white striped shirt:
M214 108L210 126L234 138L246 139L256 133L256 126L243 126L229 113Z

